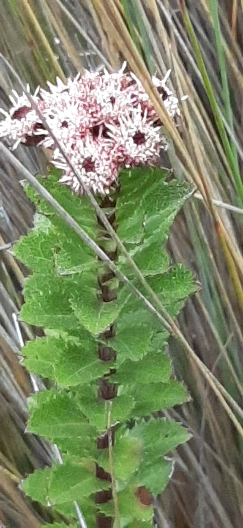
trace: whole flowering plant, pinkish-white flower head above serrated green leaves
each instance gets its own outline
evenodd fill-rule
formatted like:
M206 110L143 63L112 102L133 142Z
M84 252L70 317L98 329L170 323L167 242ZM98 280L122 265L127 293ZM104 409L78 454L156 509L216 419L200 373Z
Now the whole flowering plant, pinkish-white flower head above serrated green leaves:
M178 99L167 78L153 82L176 118ZM81 228L71 229L51 201L26 186L36 215L34 229L14 248L33 271L20 318L43 327L44 335L27 342L23 355L31 372L51 380L51 389L30 399L27 428L60 451L59 463L36 470L23 489L52 508L60 528L110 527L111 519L116 527L144 528L152 526L153 497L172 474L166 454L189 438L179 423L154 418L188 395L171 377L168 325L144 291L152 290L169 317L195 291L188 270L170 267L165 247L190 192L151 167L168 144L147 93L124 67L112 74L85 71L49 88L33 97L14 92L0 124L0 135L15 147L51 149L63 174L57 181L59 171L50 171L42 184ZM112 186L112 200L102 199L103 222L91 205L96 200L84 194L88 188L105 195ZM80 231L95 244L88 246ZM108 257L105 263L94 247Z

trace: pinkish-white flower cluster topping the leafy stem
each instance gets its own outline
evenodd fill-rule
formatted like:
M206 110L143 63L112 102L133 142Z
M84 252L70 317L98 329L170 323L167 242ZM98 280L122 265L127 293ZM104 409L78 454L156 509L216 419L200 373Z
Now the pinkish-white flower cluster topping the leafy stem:
M25 93L13 91L13 107L0 122L0 136L52 150L52 163L61 168L60 182L83 193L82 182L93 193L108 193L119 171L135 165L155 165L168 144L161 123L140 81L132 73L84 71L64 84L57 78L49 90L37 89L31 98L52 130L48 133ZM166 81L152 78L171 117L179 115L178 99ZM29 91L29 89L27 89ZM68 156L73 169L62 155Z

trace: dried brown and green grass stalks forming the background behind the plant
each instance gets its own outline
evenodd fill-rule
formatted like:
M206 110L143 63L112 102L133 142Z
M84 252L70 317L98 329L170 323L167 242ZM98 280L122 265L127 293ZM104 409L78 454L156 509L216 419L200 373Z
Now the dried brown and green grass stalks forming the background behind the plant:
M34 90L46 80L83 68L129 67L151 90L149 72L164 76L181 105L181 123L164 119L171 138L168 165L197 194L174 222L169 250L190 267L198 293L179 317L193 350L225 388L216 397L205 375L174 338L174 371L192 400L171 416L192 432L174 454L173 476L155 504L165 528L243 526L243 2L242 0L0 0L0 52ZM0 59L1 106L20 90ZM36 149L15 155L33 173L45 173ZM53 450L24 433L33 379L18 361L16 314L23 302L24 270L8 251L27 232L33 208L17 174L0 160L0 525L34 528L51 521L17 487ZM198 194L202 197L199 200ZM219 205L220 204L220 205ZM223 204L235 206L229 210ZM24 339L35 330L21 325ZM205 371L207 372L207 371ZM231 398L229 398L228 394ZM227 401L227 403L226 403ZM225 403L224 403L225 402Z

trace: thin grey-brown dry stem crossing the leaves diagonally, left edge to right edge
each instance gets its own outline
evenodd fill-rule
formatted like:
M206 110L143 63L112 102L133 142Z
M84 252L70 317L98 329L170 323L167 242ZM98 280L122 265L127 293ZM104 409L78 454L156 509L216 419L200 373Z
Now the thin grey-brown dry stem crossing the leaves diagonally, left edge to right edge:
M227 401L230 403L232 408L235 409L235 411L239 414L239 416L243 419L243 411L240 409L238 404L235 402L235 400L230 396L230 394L226 391L226 389L221 385L221 383L215 378L215 376L210 372L208 367L202 363L202 361L199 359L199 357L195 354L189 343L187 342L186 338L182 335L180 332L178 326L176 323L174 323L173 319L169 316L169 314L166 312L166 309L161 305L159 299L154 294L154 292L151 290L149 285L147 285L147 282L144 280L142 281L142 284L144 288L150 293L153 302L155 303L155 307L150 303L150 301L145 298L140 291L135 288L132 283L129 281L127 277L125 277L114 265L114 262L111 261L108 256L97 246L97 244L85 233L85 231L80 227L79 224L77 224L72 216L70 216L63 208L62 206L53 198L53 196L46 191L46 189L37 182L36 178L22 165L21 162L19 162L14 155L9 152L9 150L3 145L0 144L0 152L8 159L9 162L17 169L17 171L20 171L20 173L23 175L23 178L30 183L35 190L48 202L50 203L54 209L59 213L61 218L70 225L72 229L79 235L82 240L84 240L92 249L95 251L95 253L106 263L108 263L110 269L114 271L114 273L118 276L120 280L125 282L131 288L133 293L139 297L145 306L154 313L158 319L160 320L161 324L164 328L166 328L174 337L178 339L178 341L184 346L186 351L188 352L189 357L196 363L199 370L202 372L203 376L205 376L205 379L207 380L208 384L211 386L213 392L217 395L220 403L222 404L223 408L226 410L228 416L230 417L231 421L234 423L236 429L240 433L240 435L243 437L243 428L241 427L239 421L235 417L235 414L230 409ZM140 272L139 272L140 273ZM157 306L157 308L156 308ZM159 311L158 311L159 310ZM162 315L161 315L162 314ZM227 401L226 401L227 400Z

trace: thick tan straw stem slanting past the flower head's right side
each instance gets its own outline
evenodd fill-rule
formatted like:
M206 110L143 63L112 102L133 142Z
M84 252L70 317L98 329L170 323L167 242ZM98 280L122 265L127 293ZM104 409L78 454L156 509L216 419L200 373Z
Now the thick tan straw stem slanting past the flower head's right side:
M243 291L239 279L239 274L241 278L243 278L243 259L237 243L232 237L232 233L228 233L218 211L213 205L211 189L209 188L208 182L206 181L206 178L202 174L201 170L199 168L195 168L195 165L188 153L187 148L184 146L176 126L174 126L173 121L168 116L167 111L164 109L159 97L159 93L153 86L151 76L131 39L123 18L116 7L116 3L113 0L106 0L104 6L104 4L100 3L99 0L93 0L93 5L95 6L96 11L100 14L100 18L105 25L106 31L109 31L112 34L112 39L116 42L116 46L119 47L125 59L130 64L132 71L141 81L145 91L147 91L154 108L157 111L157 114L168 130L168 133L170 134L174 144L178 147L179 152L189 170L189 173L191 174L193 182L197 185L201 195L203 196L204 203L212 214L221 246L223 252L225 253L230 276L233 284L235 285L239 304L241 307L243 307Z

